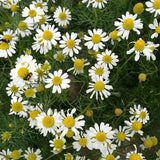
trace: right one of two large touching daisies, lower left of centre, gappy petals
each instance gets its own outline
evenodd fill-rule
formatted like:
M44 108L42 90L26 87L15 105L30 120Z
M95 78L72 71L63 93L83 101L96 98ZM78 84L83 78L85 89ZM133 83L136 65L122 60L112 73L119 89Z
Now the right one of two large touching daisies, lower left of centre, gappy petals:
M67 114L64 114L64 111L61 110L61 116L62 116L62 125L59 127L59 131L62 132L61 136L63 137L69 129L71 129L75 135L79 134L78 129L82 130L85 120L83 120L84 115L80 115L76 118L74 118L73 114L76 112L76 109L73 108L71 111L70 109L67 110Z

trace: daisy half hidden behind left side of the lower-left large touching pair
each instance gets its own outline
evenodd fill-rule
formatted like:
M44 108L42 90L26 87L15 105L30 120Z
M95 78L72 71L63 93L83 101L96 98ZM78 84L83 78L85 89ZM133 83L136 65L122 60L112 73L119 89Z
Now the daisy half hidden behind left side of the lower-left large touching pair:
M31 128L35 127L37 125L37 120L36 117L38 117L38 114L40 114L43 111L43 106L42 104L37 104L35 107L34 106L29 106L29 126Z

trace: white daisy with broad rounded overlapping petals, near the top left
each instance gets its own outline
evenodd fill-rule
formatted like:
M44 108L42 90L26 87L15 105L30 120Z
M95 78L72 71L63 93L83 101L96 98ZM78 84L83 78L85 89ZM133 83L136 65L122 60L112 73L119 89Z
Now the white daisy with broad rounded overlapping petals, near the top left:
M40 7L36 8L34 4L30 4L29 8L25 7L22 11L22 17L26 17L26 22L32 24L39 22L41 19L41 16L39 15L44 15L44 11Z

